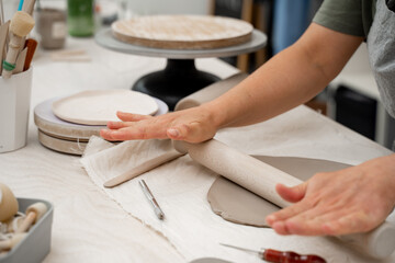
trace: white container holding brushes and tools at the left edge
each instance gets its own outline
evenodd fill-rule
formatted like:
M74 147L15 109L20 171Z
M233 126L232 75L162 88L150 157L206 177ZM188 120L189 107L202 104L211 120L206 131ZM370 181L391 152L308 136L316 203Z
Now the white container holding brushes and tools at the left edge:
M10 79L0 77L0 152L26 145L32 73L31 67Z

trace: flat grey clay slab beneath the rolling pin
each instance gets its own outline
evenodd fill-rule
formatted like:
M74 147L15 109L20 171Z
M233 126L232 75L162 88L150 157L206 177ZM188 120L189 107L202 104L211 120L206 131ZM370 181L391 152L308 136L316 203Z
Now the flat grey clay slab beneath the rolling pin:
M334 161L297 157L253 157L303 181L308 180L317 172L330 172L350 167ZM211 186L207 201L212 210L225 220L256 227L268 227L264 218L280 209L223 176L218 176Z

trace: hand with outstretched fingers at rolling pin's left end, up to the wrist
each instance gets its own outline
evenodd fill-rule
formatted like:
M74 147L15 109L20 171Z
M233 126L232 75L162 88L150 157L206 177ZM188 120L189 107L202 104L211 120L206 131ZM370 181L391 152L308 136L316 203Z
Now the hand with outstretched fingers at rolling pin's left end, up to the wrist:
M201 142L214 137L217 126L206 106L192 107L160 116L147 116L119 112L123 122L109 122L100 130L106 140L165 139Z

